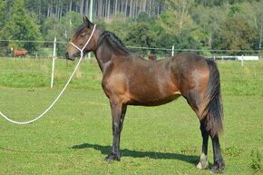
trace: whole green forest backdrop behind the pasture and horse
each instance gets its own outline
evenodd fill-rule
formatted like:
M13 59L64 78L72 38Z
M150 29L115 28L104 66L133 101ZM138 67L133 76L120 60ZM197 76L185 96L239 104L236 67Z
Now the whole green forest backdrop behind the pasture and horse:
M63 55L82 16L90 15L91 1L0 1L0 54L10 53L12 46L34 54L52 48L56 37ZM263 0L93 0L93 23L130 47L260 54L262 7Z

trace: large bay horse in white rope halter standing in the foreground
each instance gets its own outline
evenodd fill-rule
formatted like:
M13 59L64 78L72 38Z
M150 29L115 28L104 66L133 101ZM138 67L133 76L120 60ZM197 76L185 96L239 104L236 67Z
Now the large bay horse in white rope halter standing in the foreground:
M83 49L80 49L83 48ZM196 53L179 53L150 62L131 53L112 32L83 16L73 34L66 58L93 51L102 71L102 89L112 110L112 151L105 160L121 160L120 138L128 105L157 106L184 97L200 120L202 151L198 169L208 169L208 141L212 141L212 172L225 167L219 144L223 108L216 63Z

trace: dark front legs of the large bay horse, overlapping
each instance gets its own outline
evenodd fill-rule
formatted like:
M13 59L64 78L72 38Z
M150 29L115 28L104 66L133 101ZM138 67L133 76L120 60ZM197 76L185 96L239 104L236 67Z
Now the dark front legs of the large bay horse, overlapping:
M112 151L105 158L105 160L121 160L120 154L120 140L121 140L121 131L124 121L124 116L126 113L127 106L119 103L111 102L112 108Z

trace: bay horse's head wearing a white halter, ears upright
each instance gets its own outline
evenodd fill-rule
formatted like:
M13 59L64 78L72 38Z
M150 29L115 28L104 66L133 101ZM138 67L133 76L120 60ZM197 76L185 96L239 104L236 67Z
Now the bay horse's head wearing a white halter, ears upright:
M95 27L87 16L83 16L83 24L79 26L71 43L67 47L66 58L74 60L76 56L80 56L81 53L88 53L93 51L96 46L96 34Z

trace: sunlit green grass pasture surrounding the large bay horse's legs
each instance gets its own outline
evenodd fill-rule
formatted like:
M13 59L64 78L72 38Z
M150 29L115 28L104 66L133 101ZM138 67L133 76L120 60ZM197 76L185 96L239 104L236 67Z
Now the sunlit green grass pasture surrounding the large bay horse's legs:
M0 111L30 120L53 102L76 62L0 58ZM263 169L263 62L218 61L225 113L220 137L225 174ZM43 119L15 125L0 119L0 174L210 174L198 170L200 124L180 98L159 107L128 107L122 160L106 162L112 118L101 72L85 60L69 89ZM209 162L212 163L209 141Z

